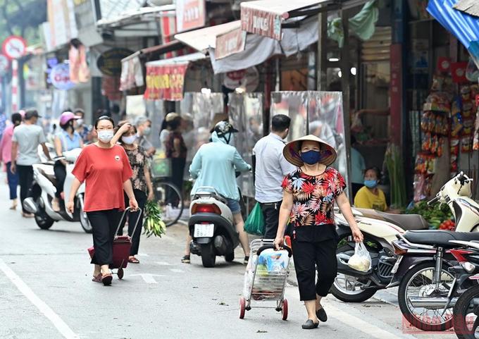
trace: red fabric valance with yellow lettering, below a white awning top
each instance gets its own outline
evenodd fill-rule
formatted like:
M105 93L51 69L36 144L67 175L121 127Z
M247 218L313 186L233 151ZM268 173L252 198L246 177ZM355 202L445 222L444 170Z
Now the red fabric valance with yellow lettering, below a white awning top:
M183 99L187 68L188 63L147 66L147 90L144 92L144 99L170 101Z

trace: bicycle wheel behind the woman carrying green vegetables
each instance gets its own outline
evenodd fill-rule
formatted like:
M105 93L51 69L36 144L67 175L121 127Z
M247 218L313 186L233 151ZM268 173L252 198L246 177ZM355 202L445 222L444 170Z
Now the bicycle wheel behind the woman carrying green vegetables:
M161 210L161 219L166 227L176 223L185 207L183 196L178 187L168 182L155 183L155 196Z

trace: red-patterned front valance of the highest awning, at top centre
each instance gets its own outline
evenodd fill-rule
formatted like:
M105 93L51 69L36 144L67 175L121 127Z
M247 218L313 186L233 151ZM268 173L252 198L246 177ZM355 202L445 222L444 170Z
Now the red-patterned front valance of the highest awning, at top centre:
M282 38L281 23L280 14L247 6L241 7L241 28L246 32L280 40Z

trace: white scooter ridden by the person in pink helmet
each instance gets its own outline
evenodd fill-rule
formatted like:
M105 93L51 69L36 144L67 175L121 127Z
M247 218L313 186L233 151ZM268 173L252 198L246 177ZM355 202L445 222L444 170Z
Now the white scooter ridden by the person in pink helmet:
M74 163L80 155L81 149L72 149L63 152L63 156L56 157L55 160L65 159L68 161L66 166L66 179L63 184L65 197L69 197L70 188L75 178L72 174ZM85 197L85 184L82 184L75 196L75 213L70 214L66 210L65 204L61 202L61 210L54 211L51 207L51 201L55 197L56 178L54 173L54 161L44 161L33 165L33 184L30 189L30 195L23 202L23 207L35 215L35 222L42 230L48 230L55 221L80 221L80 225L86 233L92 233L87 214L83 210Z

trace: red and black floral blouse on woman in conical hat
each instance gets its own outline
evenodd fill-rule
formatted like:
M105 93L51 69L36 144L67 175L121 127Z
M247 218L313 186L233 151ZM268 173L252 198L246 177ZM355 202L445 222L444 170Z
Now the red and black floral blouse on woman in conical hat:
M321 175L307 175L297 169L285 176L282 188L293 195L290 223L301 226L321 226L335 223L335 198L346 183L335 168L326 168Z

